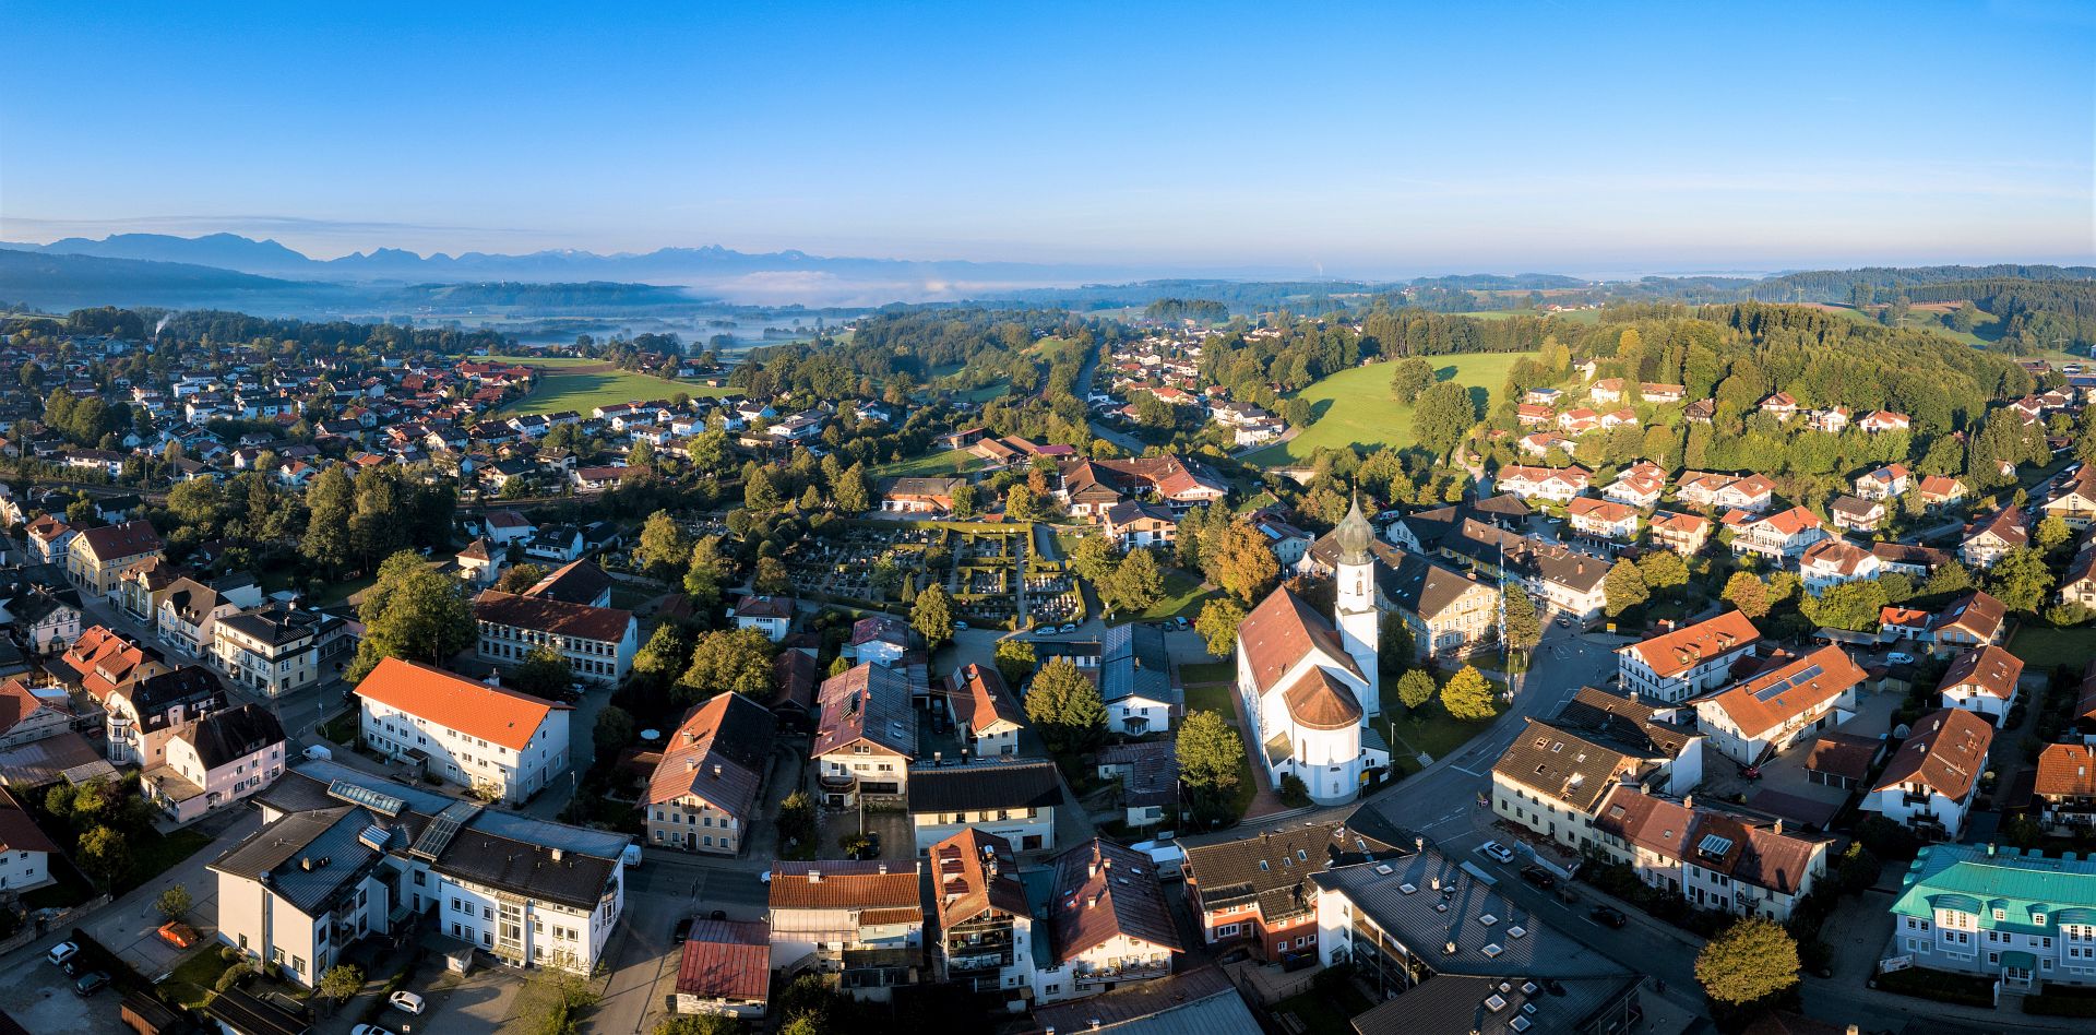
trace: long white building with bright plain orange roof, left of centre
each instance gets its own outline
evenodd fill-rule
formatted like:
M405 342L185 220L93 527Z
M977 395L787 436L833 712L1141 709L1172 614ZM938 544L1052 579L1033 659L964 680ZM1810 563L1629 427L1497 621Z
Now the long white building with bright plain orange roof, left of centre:
M526 802L568 771L568 704L386 658L356 685L365 744L484 800Z

